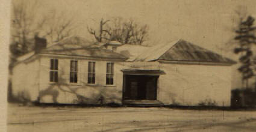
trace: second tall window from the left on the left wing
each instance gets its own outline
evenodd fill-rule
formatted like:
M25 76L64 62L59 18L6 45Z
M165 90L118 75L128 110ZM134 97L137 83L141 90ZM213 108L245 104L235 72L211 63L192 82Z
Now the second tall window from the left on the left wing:
M78 83L78 60L75 59L70 60L69 83Z

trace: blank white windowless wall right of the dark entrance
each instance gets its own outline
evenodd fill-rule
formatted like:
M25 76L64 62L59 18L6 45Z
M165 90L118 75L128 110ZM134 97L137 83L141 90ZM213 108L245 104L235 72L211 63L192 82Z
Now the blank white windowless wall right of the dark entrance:
M164 104L230 106L231 66L161 64L166 74L158 80L158 100Z

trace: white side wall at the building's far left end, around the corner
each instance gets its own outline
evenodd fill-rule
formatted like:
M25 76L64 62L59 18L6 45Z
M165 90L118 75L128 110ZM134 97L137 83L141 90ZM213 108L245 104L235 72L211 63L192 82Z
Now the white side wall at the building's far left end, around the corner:
M12 94L20 101L37 101L39 95L39 60L21 62L13 68Z

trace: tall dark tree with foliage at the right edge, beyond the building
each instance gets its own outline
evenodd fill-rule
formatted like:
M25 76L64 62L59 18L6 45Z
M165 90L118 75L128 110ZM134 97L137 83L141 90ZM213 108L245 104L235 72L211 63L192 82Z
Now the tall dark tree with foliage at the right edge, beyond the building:
M256 44L254 21L255 19L252 16L248 16L246 20L240 19L239 27L236 30L237 35L234 38L239 41L234 53L240 54L239 61L242 65L238 70L242 73L246 88L248 88L248 79L254 76L251 50L252 44Z

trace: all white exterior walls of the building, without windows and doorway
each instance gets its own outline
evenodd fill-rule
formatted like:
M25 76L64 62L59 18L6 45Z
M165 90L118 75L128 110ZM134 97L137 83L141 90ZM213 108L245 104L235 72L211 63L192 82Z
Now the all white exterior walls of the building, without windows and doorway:
M70 60L58 59L58 83L49 82L50 59L42 56L13 69L14 97L40 103L122 103L122 69L134 67L132 62L96 62L96 83L87 83L89 59L78 60L78 83L69 83ZM114 85L105 85L107 62L114 62ZM146 64L143 64L146 65ZM158 67L157 67L158 68ZM220 65L161 64L157 100L164 104L198 106L216 103L229 106L231 100L231 68Z

